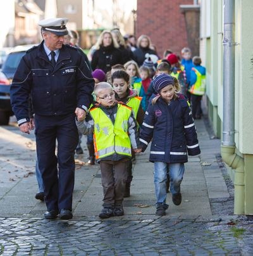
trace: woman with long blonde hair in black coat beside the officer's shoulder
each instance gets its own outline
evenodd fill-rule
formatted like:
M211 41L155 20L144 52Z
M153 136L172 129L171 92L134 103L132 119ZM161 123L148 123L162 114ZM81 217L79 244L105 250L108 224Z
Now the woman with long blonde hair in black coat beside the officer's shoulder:
M118 42L113 38L111 32L104 30L95 45L96 51L91 60L92 70L99 68L107 73L113 65L123 64L122 54L118 48Z

